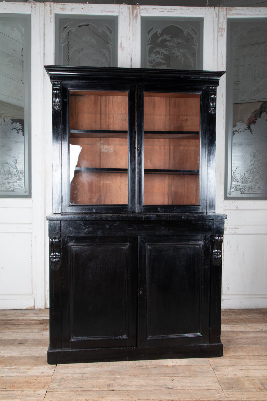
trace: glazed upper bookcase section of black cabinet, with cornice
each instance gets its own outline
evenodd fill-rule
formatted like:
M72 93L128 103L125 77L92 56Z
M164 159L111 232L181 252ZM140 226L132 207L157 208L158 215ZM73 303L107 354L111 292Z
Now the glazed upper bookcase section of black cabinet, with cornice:
M53 97L54 213L215 212L223 72L45 69Z

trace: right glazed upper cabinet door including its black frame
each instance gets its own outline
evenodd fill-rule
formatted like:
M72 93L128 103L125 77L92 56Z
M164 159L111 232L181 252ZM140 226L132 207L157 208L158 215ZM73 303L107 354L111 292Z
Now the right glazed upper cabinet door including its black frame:
M137 89L137 209L206 212L207 93L166 89Z

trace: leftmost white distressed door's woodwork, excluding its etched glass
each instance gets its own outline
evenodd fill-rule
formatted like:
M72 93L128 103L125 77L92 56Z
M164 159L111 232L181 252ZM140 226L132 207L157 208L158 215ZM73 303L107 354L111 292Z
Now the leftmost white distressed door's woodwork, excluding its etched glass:
M0 308L44 308L43 4L2 2L0 12L30 14L32 27L32 199L0 199L0 243L7 255L2 257Z

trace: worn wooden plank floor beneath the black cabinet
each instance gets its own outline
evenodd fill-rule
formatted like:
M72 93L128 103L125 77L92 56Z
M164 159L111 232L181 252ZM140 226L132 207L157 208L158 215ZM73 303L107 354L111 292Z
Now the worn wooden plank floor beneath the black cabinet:
M47 365L48 310L0 310L0 400L267 401L267 309L222 312L221 358Z

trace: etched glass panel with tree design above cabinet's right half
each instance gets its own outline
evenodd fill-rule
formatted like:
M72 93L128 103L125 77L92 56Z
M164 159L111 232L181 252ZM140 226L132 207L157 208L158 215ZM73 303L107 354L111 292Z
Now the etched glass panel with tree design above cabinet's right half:
M142 17L141 67L203 68L202 18Z

